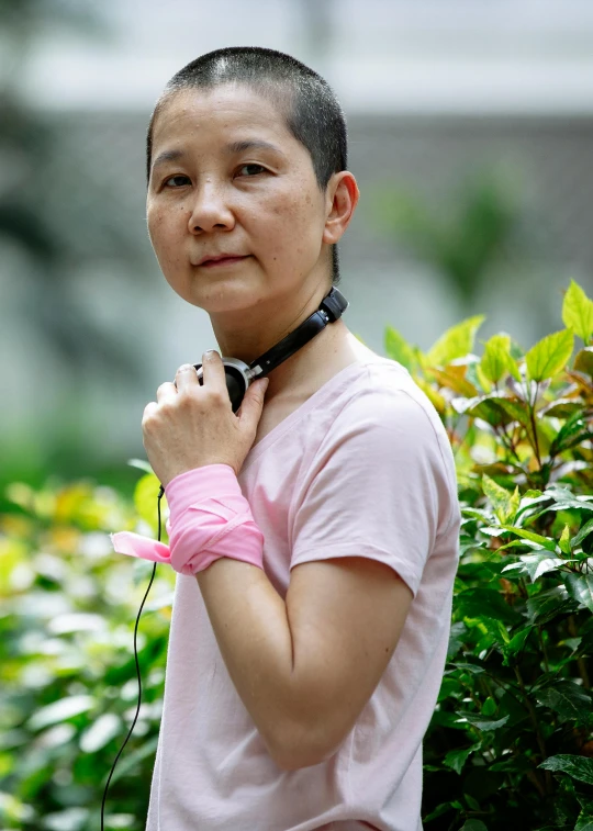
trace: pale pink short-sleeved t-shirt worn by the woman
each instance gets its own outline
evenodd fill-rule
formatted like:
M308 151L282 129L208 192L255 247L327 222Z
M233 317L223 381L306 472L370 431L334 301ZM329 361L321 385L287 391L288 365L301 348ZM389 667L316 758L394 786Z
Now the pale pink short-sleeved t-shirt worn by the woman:
M147 831L418 831L460 523L436 411L399 363L350 364L251 449L238 480L282 597L299 563L368 557L393 568L414 599L339 750L283 771L228 676L198 581L178 574Z

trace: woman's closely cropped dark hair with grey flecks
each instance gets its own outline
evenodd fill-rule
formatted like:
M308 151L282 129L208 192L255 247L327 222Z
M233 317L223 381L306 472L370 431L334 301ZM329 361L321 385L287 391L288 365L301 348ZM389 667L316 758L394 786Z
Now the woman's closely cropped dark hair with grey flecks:
M150 179L153 132L167 100L184 89L213 89L242 83L271 99L290 133L309 151L320 189L333 173L346 170L347 132L344 111L327 81L296 58L260 46L231 46L209 52L180 69L165 87L148 125L146 179ZM339 282L337 246L332 246L332 280Z

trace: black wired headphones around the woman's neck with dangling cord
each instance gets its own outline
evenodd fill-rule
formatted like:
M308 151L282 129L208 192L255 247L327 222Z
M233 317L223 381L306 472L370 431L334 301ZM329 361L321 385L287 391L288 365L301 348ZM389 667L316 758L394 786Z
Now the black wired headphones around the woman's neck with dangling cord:
M280 340L276 346L272 346L271 349L268 349L267 352L264 352L264 355L260 355L259 358L256 358L253 363L245 363L242 360L238 360L238 358L224 358L223 357L223 364L224 364L224 372L226 375L226 389L228 390L228 397L231 398L231 405L233 407L233 413L236 413L237 409L240 407L240 402L244 398L245 393L247 392L249 385L258 378L264 378L269 372L271 372L276 367L280 366L283 361L286 361L288 358L290 358L294 352L299 351L301 347L303 347L305 344L309 344L310 340L312 340L315 335L318 335L320 332L323 332L323 329L327 326L328 323L335 323L339 317L342 317L342 313L346 311L348 307L348 301L342 294L340 291L338 291L335 287L332 288L328 294L323 299L321 302L320 307L316 312L313 312L312 315L310 315L306 321L303 321L293 332L291 332L289 335L287 335L282 340ZM203 377L202 377L202 364L201 363L194 363L195 370L198 372L198 379L201 384L203 384ZM165 493L165 489L163 485L160 485L160 490L158 492L157 497L157 513L158 513L158 540L160 541L160 499ZM141 671L139 671L139 663L138 663L138 652L137 652L137 645L136 645L136 638L138 632L138 624L139 618L142 615L142 610L144 608L144 604L146 603L146 598L148 597L148 592L150 591L150 586L153 585L153 581L155 579L156 573L156 566L155 563L153 565L153 572L150 575L150 581L148 583L148 587L146 588L146 592L144 594L144 597L142 598L141 607L138 609L138 614L136 617L136 624L134 626L134 659L136 663L136 677L138 681L138 703L136 706L136 715L134 716L134 720L132 721L132 726L127 732L127 735L125 737L125 740L120 748L120 751L118 755L115 756L115 761L113 762L113 765L111 766L111 771L109 773L105 788L103 790L103 800L101 802L101 831L104 829L104 810L105 810L105 800L109 789L109 784L111 782L111 777L113 776L113 772L115 770L115 765L118 764L118 761L123 752L123 749L127 744L127 741L130 737L132 735L132 731L134 730L134 727L136 726L136 721L138 719L139 709L141 709L141 703L142 703L142 678L141 678Z

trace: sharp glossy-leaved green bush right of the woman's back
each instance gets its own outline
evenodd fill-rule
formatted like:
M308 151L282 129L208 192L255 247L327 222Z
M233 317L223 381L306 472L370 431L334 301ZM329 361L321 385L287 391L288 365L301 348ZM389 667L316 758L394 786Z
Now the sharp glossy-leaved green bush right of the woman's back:
M527 353L482 317L428 355L388 329L437 407L462 505L452 631L425 741L427 831L593 829L593 302ZM574 337L583 341L571 362Z

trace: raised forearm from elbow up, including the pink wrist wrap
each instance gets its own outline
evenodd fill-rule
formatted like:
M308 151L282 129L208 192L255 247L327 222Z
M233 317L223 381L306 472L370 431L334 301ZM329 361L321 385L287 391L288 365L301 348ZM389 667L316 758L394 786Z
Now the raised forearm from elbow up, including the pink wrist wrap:
M315 764L315 725L328 723L318 716L316 650L295 639L303 621L291 626L290 605L264 571L264 537L234 472L224 464L202 467L165 490L170 547L121 532L113 538L116 550L195 575L228 674L270 755L281 766Z

